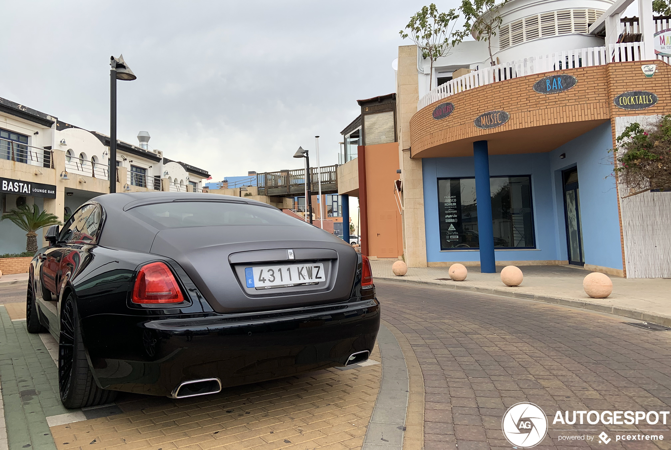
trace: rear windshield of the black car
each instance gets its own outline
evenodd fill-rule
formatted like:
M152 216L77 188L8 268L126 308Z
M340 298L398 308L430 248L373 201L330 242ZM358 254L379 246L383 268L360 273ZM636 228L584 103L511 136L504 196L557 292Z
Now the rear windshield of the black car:
M171 201L138 206L129 213L159 229L223 225L309 226L303 220L271 208L217 201Z

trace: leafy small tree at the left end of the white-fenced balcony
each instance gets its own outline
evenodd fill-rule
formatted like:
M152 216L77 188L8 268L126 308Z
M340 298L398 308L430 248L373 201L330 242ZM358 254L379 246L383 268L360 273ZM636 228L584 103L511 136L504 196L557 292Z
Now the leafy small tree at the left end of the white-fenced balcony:
M399 32L401 38L410 38L419 47L423 58L431 60L429 90L433 83L433 62L441 56L448 56L450 50L466 36L464 32L454 32L458 18L456 9L439 13L435 3L431 3L410 17L405 30Z

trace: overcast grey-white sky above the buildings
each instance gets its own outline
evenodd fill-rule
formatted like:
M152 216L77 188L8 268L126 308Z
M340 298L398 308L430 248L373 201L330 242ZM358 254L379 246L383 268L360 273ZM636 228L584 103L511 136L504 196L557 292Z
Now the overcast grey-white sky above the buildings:
M119 139L146 130L214 181L302 167L291 156L315 135L335 164L356 100L395 91L399 30L426 3L5 2L0 97L109 134L109 56L123 53L138 79L117 85Z

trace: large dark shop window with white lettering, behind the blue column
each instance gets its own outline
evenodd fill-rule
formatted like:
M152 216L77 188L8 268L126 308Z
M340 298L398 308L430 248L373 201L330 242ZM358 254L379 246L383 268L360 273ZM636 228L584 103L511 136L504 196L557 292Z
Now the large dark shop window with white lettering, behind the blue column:
M533 249L531 177L491 177L494 246ZM438 179L441 250L478 249L478 211L474 178Z

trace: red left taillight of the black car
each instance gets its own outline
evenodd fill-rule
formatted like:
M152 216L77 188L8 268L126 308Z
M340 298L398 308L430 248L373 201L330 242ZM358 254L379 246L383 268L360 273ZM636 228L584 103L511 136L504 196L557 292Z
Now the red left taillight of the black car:
M149 263L138 272L133 303L181 303L184 296L165 263Z

